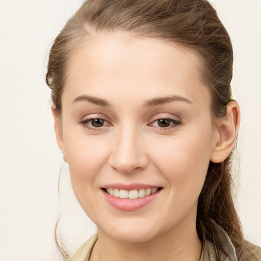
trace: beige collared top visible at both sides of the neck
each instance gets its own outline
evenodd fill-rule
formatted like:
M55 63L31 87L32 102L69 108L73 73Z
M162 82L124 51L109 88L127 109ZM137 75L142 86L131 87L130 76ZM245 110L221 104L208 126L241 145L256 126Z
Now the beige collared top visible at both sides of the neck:
M215 223L218 228L219 233L221 234L223 241L223 248L228 253L228 256L225 255L223 252L219 251L220 260L221 261L238 261L236 252L234 251L234 247L227 236L226 232ZM98 235L94 234L87 242L85 242L77 252L72 256L70 261L88 261L90 259L90 255L95 245L96 241L98 240ZM205 240L203 242L202 253L199 261L217 261L216 258L216 250L214 245Z

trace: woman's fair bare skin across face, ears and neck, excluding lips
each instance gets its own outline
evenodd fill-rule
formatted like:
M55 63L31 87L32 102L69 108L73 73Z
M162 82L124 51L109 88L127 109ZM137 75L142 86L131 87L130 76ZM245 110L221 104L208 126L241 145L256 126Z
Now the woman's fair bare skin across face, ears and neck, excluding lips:
M212 125L199 64L189 48L123 33L96 34L71 59L62 122L55 108L53 114L75 196L97 225L91 260L199 260L198 196L209 162L228 156L239 125L236 101ZM179 99L151 104L173 96ZM160 127L158 120L166 118L180 123ZM95 128L91 119L105 123ZM125 212L101 191L115 182L163 189L149 204Z

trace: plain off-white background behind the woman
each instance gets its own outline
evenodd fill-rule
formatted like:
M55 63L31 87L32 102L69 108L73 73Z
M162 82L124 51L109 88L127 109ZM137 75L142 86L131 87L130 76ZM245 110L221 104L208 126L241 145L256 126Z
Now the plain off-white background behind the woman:
M212 2L232 39L232 87L242 112L237 208L247 238L261 245L261 1ZM81 3L0 0L1 260L57 260L54 226L62 211L69 251L95 232L71 191L44 83L49 45Z

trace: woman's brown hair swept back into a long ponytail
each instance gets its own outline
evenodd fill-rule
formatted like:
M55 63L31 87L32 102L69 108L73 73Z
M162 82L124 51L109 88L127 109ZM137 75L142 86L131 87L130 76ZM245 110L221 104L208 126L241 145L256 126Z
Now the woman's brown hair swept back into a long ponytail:
M61 96L68 61L95 32L122 31L135 37L151 37L193 48L201 59L201 76L212 94L212 114L226 114L231 96L233 52L229 35L215 9L206 0L90 0L68 20L50 50L46 83L60 116ZM240 261L260 260L247 242L232 198L231 156L210 163L198 201L197 231L217 248L211 219L228 234ZM217 260L219 257L217 256Z

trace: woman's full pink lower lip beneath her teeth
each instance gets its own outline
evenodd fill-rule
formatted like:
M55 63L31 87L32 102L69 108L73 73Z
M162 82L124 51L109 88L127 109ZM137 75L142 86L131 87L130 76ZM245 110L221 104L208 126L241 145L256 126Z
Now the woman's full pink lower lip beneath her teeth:
M158 190L154 194L151 194L149 196L145 196L142 198L136 198L136 199L129 199L129 198L116 198L105 192L104 190L101 190L103 192L103 195L105 195L107 201L110 205L117 208L118 210L122 211L136 211L139 210L139 208L142 208L143 206L149 204L151 201L153 201L162 190Z

